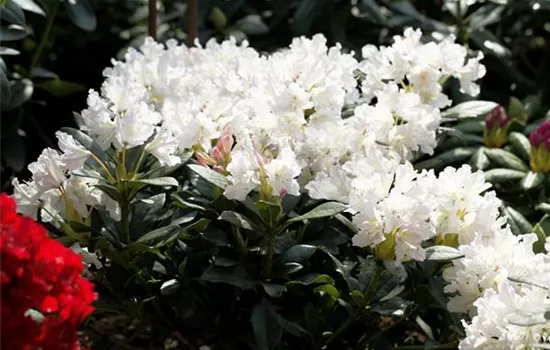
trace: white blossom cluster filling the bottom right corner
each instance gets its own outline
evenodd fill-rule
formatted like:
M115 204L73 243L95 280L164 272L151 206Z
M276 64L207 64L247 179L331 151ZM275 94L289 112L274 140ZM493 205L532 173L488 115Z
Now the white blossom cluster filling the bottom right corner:
M485 233L485 235L484 235ZM443 272L451 312L467 312L461 350L537 349L550 344L550 256L533 252L535 234L508 228L476 233L464 258Z

